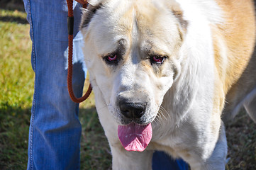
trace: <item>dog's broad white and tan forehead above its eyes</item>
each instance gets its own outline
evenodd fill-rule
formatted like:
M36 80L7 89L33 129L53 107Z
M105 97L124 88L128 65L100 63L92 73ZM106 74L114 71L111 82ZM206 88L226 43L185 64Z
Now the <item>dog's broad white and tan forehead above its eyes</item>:
M85 24L91 25L91 28L94 29L91 31L91 33L94 32L91 37L99 37L99 43L108 42L104 44L104 47L96 45L101 47L98 51L100 54L113 51L113 48L118 46L121 39L126 40L127 46L131 47L133 45L137 50L148 50L154 46L171 50L173 38L177 39L179 37L176 26L177 18L174 18L172 8L169 7L171 4L166 6L164 0L106 0L94 1L94 5L91 11L96 13L95 18L94 16L91 16L93 19L87 18L87 22L93 22L92 24ZM169 36L170 33L172 33L172 36ZM161 41L165 42L166 47L161 45ZM159 48L155 47L155 50L159 50Z

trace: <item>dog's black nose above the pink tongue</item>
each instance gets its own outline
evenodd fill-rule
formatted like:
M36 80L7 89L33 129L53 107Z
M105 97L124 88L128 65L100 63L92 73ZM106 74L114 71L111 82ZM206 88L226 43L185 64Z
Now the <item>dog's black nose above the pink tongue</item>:
M130 103L125 100L120 101L119 108L121 113L129 119L138 119L145 113L145 103Z

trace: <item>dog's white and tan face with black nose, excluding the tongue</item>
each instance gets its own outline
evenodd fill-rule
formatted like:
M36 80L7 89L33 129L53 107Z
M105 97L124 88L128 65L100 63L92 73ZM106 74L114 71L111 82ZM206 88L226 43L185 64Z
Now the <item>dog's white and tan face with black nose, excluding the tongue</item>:
M151 123L179 74L185 21L172 1L89 1L82 17L91 83L121 125Z

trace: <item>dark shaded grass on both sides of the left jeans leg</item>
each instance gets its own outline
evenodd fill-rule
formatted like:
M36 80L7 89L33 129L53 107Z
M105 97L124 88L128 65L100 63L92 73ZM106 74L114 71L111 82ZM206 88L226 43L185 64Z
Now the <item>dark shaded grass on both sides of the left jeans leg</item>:
M80 108L81 169L111 169L111 154L95 108ZM26 169L30 108L0 103L0 169Z

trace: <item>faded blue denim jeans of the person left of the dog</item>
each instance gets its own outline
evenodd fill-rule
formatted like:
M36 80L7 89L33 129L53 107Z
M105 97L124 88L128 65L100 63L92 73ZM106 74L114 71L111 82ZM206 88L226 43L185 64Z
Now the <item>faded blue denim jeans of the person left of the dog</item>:
M35 72L28 169L79 169L82 128L78 118L79 105L70 100L67 91L66 0L24 0L24 5L30 23L31 64ZM74 94L79 97L87 69L81 50L82 35L78 30L81 6L76 1L73 6L72 83Z

